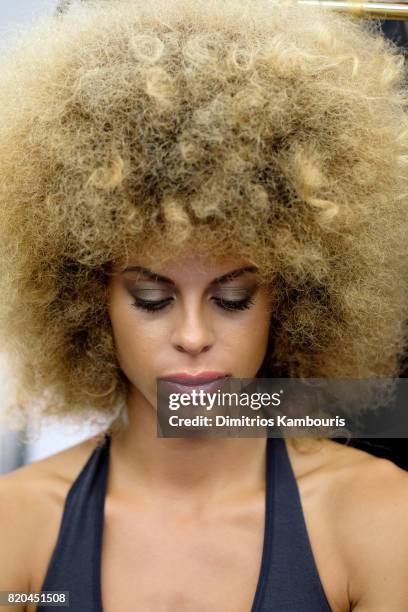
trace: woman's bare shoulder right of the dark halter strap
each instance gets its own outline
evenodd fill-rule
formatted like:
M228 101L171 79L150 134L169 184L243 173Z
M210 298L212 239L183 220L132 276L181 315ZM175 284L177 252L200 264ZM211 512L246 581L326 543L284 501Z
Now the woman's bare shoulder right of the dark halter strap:
M408 472L331 440L303 463L296 460L300 477L312 482L314 474L319 483L320 503L347 568L351 609L407 610Z

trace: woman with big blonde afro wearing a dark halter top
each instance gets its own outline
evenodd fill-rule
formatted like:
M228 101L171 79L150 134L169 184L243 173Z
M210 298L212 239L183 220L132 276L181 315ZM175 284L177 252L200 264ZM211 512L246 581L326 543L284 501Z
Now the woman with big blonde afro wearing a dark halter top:
M85 3L3 61L10 413L103 425L0 480L0 590L407 610L403 470L324 439L156 437L160 378L398 375L404 71L369 24L260 0Z

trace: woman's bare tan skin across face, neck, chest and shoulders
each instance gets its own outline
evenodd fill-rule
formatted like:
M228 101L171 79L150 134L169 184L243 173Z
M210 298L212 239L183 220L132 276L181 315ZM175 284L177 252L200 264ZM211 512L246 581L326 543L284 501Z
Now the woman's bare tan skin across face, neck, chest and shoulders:
M157 438L155 385L179 371L254 377L273 299L239 257L209 263L186 252L130 265L171 282L118 264L109 284L129 424L111 445L104 612L249 612L263 545L266 439ZM147 311L136 298L167 303ZM220 298L252 303L225 310ZM329 440L310 443L314 451L302 453L286 441L332 610L408 610L408 474ZM0 478L0 590L41 590L65 497L94 446L91 438Z

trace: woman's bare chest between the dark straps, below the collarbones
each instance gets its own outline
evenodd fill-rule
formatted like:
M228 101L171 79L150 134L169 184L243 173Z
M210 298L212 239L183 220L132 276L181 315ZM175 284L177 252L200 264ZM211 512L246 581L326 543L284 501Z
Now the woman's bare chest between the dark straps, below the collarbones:
M160 518L160 520L159 520ZM249 612L263 552L263 504L191 519L106 508L104 612Z

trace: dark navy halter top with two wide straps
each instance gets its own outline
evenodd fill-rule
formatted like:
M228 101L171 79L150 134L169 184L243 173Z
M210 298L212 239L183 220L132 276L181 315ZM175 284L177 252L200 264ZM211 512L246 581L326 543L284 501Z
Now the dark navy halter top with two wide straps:
M42 586L43 591L69 591L72 612L103 612L101 551L109 448L106 434L68 491ZM37 611L63 609L40 605ZM263 552L248 612L331 612L311 550L296 479L280 438L267 440Z

